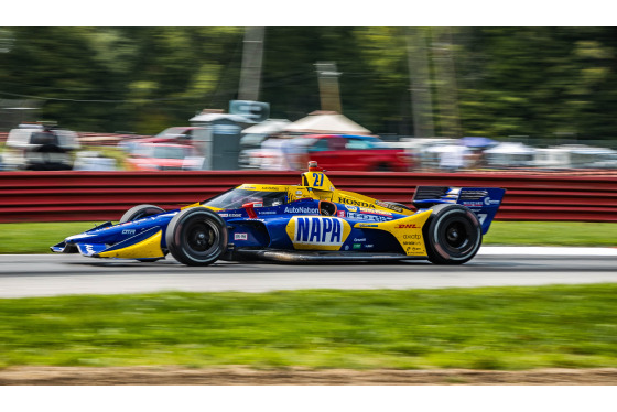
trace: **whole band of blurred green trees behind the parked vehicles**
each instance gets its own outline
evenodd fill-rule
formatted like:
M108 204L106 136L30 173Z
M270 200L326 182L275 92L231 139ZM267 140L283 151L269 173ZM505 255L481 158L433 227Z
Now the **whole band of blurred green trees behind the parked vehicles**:
M436 134L615 137L615 28L267 28L260 100L272 118L320 109L315 63L336 62L345 115L412 134L410 39L426 40ZM44 101L83 131L155 133L237 97L242 28L4 28L0 97ZM448 68L450 67L450 68ZM452 73L448 75L447 71ZM444 87L445 85L445 87ZM453 117L454 116L454 117Z

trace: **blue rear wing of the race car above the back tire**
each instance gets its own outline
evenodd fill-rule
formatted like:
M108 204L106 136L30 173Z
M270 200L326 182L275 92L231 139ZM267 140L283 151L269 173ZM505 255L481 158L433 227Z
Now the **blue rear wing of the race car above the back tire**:
M442 203L466 206L478 217L485 235L505 194L506 189L499 187L418 186L411 202L418 209Z

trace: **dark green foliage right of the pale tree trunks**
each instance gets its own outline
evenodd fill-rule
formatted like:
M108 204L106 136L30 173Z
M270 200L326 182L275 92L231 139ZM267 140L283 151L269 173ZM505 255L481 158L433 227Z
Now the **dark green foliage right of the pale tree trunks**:
M617 124L606 102L615 99L617 77L609 68L616 46L610 32L462 29L455 39L465 42L456 55L464 129L497 138L611 138Z

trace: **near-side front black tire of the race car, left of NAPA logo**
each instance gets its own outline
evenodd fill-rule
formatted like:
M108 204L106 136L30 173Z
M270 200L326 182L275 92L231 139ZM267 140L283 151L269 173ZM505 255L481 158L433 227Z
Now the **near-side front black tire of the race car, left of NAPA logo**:
M208 265L227 251L227 225L203 207L180 212L167 225L165 241L172 256L187 265Z

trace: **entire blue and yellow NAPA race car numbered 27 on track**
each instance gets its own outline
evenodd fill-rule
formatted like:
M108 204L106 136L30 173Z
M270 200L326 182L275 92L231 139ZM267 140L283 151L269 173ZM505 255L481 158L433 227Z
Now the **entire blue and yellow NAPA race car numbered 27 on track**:
M217 260L280 262L423 259L469 261L480 248L505 189L419 186L414 209L335 188L310 162L299 185L242 184L174 210L130 208L52 246L54 252L187 265Z

